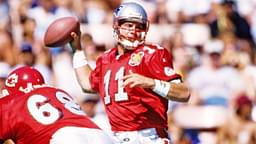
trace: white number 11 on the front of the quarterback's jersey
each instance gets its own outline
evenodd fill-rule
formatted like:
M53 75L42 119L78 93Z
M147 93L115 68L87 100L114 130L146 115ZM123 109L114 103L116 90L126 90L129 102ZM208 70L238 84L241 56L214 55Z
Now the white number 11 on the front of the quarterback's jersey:
M111 70L108 70L104 76L104 87L105 87L105 97L104 103L109 104L111 102L110 95L109 95L109 80L111 76ZM117 93L115 94L115 101L125 101L128 100L128 95L124 92L123 87L123 78L124 76L124 67L121 67L117 73L115 74L115 80L117 81Z

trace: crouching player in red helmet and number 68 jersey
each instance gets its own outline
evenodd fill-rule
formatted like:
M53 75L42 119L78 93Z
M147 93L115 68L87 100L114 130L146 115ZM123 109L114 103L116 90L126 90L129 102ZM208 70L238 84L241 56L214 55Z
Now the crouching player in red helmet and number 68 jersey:
M32 67L9 74L0 99L0 141L15 144L112 144L73 98L61 89L44 85Z

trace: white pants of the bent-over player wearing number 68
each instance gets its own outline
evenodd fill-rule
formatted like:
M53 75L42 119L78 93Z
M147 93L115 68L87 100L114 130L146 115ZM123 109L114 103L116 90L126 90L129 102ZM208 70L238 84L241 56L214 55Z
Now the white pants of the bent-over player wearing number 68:
M52 135L50 144L113 144L100 129L63 127Z

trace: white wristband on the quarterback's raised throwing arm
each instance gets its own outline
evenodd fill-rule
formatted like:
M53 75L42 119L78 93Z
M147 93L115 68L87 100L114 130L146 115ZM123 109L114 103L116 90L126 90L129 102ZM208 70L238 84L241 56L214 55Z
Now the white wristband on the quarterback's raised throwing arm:
M87 65L88 61L84 55L83 51L76 51L73 56L73 68L80 68Z

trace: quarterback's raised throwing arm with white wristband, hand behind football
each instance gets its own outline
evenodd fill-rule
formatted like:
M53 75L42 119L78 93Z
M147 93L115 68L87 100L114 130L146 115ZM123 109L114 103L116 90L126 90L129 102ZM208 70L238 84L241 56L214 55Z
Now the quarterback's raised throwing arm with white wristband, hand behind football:
M89 81L89 75L92 69L88 65L86 57L82 51L80 34L72 32L71 36L73 37L73 41L70 42L70 45L74 52L73 67L78 83L84 92L94 92L90 86Z

